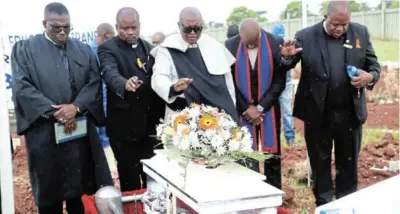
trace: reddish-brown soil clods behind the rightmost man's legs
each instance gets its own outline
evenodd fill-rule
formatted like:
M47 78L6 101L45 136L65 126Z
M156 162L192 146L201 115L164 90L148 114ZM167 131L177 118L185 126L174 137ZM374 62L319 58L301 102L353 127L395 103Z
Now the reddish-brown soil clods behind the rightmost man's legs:
M358 189L397 175L390 171L373 171L372 167L389 167L389 161L399 160L399 142L391 133L376 143L363 148L358 161ZM311 188L304 188L307 181L307 156L305 147L284 149L282 152L282 174L286 179L283 190L286 193L284 207L292 213L314 213L314 196ZM332 156L332 180L335 179L335 158Z

